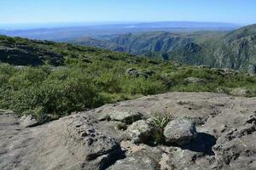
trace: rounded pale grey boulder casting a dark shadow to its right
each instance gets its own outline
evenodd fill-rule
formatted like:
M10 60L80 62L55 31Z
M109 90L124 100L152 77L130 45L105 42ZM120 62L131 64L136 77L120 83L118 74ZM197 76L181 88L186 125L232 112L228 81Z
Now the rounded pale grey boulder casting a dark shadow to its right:
M197 133L195 123L185 119L177 119L169 122L164 130L166 143L184 145L195 139Z

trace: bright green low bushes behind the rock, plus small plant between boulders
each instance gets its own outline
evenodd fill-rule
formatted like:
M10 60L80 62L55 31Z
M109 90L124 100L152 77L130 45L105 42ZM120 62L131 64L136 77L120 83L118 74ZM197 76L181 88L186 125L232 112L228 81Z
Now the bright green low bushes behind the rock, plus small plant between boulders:
M168 91L229 94L230 89L243 87L248 89L247 97L256 96L254 76L236 74L224 77L211 69L177 68L163 64L149 65L148 69L157 72L152 77L130 77L125 75L125 70L131 64L96 63L55 68L46 65L25 68L0 65L0 107L20 115L34 111L38 115L36 117L42 119L44 114L65 116L73 111ZM144 63L137 66L142 70L147 68ZM187 77L198 77L206 83L184 83ZM164 119L155 121L161 126Z

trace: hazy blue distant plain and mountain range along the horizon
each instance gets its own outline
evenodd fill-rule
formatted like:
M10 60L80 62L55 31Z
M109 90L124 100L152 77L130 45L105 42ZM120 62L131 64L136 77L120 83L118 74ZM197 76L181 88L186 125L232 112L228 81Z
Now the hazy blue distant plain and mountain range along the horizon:
M5 26L6 27L6 26ZM27 37L39 40L67 41L79 37L98 37L102 35L137 33L145 31L230 31L238 27L235 24L217 22L166 21L144 23L115 23L98 25L73 25L56 28L38 28L29 30L0 30L0 34L11 37Z

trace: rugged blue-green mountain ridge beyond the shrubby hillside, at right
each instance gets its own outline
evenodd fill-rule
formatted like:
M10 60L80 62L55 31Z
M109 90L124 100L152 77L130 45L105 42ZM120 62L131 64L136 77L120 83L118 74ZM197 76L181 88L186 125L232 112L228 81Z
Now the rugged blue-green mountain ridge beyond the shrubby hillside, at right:
M183 64L209 65L256 73L255 37L256 25L252 25L230 32L157 31L110 36L108 41L79 38L73 42L147 57L171 59Z

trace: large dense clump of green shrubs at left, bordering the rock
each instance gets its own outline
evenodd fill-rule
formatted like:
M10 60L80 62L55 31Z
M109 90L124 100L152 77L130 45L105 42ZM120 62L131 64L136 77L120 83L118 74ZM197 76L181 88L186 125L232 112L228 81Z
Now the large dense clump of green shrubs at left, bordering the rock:
M104 103L92 80L81 70L64 69L48 75L41 69L29 68L10 77L9 87L0 88L0 107L20 115L40 108L41 114L63 116Z

